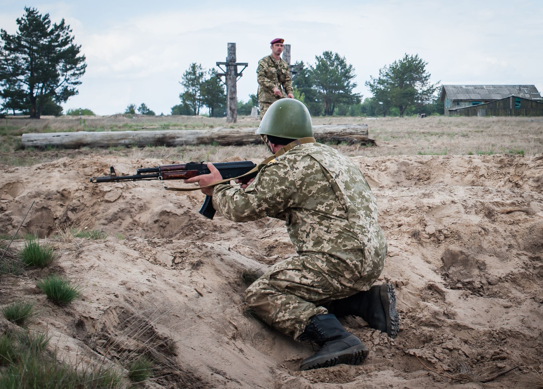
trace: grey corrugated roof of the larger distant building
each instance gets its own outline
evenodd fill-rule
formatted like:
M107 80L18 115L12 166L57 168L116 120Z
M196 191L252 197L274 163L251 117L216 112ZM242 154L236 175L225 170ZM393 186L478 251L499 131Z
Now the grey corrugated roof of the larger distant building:
M443 85L441 101L445 98L445 92L451 100L499 100L511 95L541 99L535 85Z

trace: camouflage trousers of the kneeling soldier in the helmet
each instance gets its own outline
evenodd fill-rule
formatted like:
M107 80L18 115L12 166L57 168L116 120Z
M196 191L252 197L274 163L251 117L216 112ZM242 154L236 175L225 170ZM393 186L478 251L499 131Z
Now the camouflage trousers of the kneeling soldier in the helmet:
M355 289L306 263L314 263L310 255L276 263L245 291L247 305L262 321L293 338L304 332L312 316L328 313L323 304L368 290L374 282Z

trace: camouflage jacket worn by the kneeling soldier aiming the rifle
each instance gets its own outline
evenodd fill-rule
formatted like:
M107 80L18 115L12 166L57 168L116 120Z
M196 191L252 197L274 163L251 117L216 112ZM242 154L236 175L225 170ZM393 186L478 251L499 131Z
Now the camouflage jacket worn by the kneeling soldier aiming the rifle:
M213 205L235 222L285 220L304 263L343 285L365 290L381 274L387 241L377 223L375 196L359 168L332 147L296 146L262 165L239 189L219 184Z

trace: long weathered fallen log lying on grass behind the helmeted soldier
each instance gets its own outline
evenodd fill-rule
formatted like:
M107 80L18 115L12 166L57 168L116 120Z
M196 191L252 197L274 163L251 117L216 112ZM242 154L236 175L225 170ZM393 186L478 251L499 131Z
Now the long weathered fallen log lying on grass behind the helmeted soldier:
M366 124L324 124L313 126L320 142L375 143L368 137ZM60 148L110 146L242 146L261 143L256 128L214 128L206 130L160 131L77 131L71 133L28 133L22 135L23 147Z

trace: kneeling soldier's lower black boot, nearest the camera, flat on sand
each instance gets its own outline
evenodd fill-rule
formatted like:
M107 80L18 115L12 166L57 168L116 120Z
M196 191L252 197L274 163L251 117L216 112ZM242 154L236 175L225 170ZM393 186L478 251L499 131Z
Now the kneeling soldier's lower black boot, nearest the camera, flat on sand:
M364 344L347 332L332 313L313 316L299 339L311 339L320 346L315 355L300 363L300 370L336 366L339 363L357 365L368 356Z

